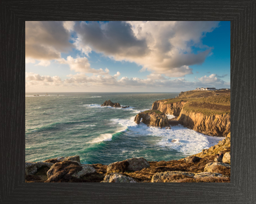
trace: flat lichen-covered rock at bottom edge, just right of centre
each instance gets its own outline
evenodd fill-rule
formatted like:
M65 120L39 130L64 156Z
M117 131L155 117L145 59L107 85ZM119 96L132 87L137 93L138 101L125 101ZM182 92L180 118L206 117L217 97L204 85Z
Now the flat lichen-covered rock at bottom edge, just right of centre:
M151 182L176 182L180 179L185 179L188 177L193 177L194 174L184 171L165 171L159 172L153 175Z

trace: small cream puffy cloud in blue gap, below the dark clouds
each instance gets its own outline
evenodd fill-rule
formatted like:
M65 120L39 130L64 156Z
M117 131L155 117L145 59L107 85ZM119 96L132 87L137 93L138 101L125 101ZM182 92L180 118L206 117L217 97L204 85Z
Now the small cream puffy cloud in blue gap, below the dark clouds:
M89 60L86 57L73 58L71 56L68 56L66 60L64 58L61 58L61 59L58 59L57 62L59 62L60 64L68 64L70 67L70 70L74 70L75 72L93 73L93 74L101 74L101 75L108 75L109 73L108 68L106 68L105 71L102 68L100 69L91 68Z

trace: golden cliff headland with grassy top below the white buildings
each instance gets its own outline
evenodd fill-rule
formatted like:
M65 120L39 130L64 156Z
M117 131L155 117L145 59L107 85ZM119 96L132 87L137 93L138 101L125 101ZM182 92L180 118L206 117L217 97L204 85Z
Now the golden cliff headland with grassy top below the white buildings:
M228 135L230 92L212 94L201 91L199 94L196 93L197 97L194 98L189 97L191 94L193 91L190 91L190 94L183 92L177 98L155 101L152 109L178 117L180 124L197 132L210 136Z

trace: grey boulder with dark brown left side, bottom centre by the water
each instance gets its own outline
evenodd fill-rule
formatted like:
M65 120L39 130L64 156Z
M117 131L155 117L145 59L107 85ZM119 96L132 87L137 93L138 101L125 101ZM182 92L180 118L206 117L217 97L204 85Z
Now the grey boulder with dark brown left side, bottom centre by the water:
M150 164L143 157L126 159L122 162L114 162L107 166L107 172L114 171L140 171L144 168L149 168Z

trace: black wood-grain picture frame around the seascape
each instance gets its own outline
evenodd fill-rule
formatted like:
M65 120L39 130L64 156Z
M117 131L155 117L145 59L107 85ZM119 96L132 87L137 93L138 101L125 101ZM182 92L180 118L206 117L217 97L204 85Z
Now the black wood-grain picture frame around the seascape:
M0 203L256 203L255 18L255 0L1 1ZM231 21L231 183L25 183L25 21L52 20Z

